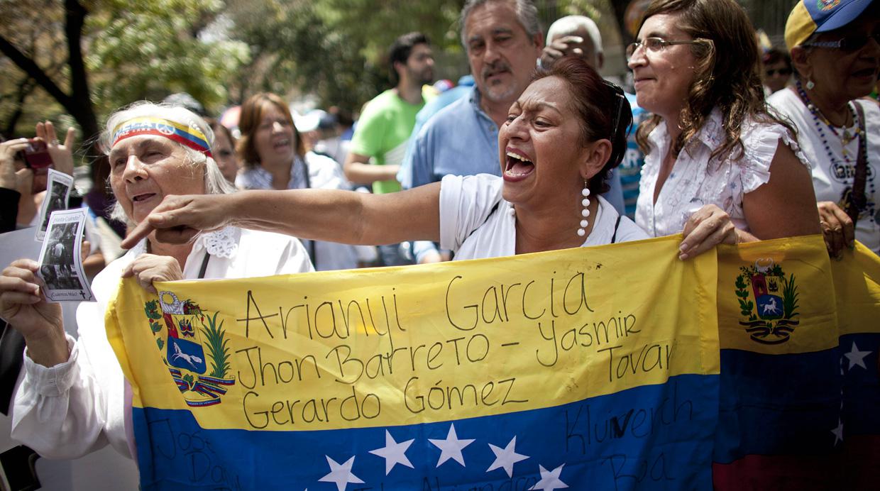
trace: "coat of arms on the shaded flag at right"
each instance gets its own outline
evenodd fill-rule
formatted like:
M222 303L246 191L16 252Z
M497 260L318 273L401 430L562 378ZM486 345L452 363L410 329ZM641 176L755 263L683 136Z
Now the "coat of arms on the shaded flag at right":
M795 275L788 275L772 259L755 260L742 266L737 276L740 326L751 334L752 341L779 344L788 341L799 321Z

